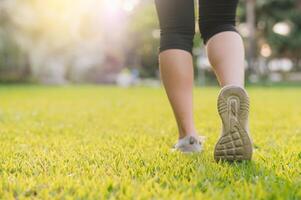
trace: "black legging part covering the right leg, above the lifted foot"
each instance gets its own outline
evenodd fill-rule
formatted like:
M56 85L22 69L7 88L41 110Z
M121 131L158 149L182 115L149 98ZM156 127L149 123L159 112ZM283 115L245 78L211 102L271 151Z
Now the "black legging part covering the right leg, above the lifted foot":
M199 28L204 44L220 32L237 32L235 28L237 4L237 0L200 0Z

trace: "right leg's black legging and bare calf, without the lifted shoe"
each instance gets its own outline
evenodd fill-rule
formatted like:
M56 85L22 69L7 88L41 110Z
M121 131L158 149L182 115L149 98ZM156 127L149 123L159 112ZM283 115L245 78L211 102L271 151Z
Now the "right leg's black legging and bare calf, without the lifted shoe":
M244 47L235 29L238 0L200 0L200 29L221 86L244 86Z

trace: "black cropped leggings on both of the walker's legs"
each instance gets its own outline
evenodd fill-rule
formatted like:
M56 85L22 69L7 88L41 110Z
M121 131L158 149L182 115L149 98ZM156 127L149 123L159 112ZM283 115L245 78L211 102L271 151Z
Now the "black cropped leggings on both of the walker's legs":
M160 52L192 52L195 34L194 0L155 0L161 28ZM199 0L199 27L204 43L215 34L236 31L238 0Z

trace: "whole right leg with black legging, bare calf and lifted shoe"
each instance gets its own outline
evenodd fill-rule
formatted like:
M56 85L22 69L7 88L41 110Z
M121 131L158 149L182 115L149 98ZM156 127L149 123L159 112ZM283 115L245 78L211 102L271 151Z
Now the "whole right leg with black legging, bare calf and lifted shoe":
M216 161L252 158L248 130L249 98L244 86L244 47L235 30L238 0L199 0L200 30L216 76L223 86L218 97L222 134L215 145Z

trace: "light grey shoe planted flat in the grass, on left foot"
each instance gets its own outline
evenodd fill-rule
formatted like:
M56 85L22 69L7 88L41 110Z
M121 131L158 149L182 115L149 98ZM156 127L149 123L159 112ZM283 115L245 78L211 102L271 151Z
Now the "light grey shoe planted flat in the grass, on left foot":
M186 136L179 139L173 150L183 153L197 153L203 149L203 137L200 136Z

